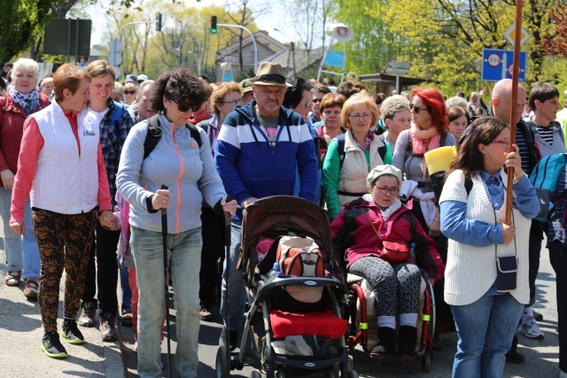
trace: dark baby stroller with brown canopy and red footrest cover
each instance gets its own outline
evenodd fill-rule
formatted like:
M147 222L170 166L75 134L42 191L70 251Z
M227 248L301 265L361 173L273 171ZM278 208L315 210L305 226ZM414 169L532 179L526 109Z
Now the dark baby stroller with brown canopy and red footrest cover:
M321 251L324 274L275 274L278 246L269 248L261 261L256 249L260 239L276 239L276 244L280 236L313 239ZM228 353L228 347L220 347L217 373L218 369L241 370L251 365L258 369L252 372L252 378L314 373L327 378L338 374L340 378L358 377L355 371L348 370L347 324L341 316L347 286L337 278L338 268L330 248L330 221L321 207L289 196L266 197L248 206L238 268L245 271L245 328L240 350L229 359L230 366L219 363ZM321 299L303 303L286 288L320 288ZM252 358L245 359L248 337ZM218 376L226 376L226 372Z

